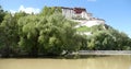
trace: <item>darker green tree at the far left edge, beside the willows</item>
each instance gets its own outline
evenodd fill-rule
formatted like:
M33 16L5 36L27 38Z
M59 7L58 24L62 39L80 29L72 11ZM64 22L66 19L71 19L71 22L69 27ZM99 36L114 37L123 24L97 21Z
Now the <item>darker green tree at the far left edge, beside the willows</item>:
M0 49L3 57L9 57L9 55L16 56L20 53L17 45L20 41L17 21L25 15L27 14L24 12L17 12L14 15L7 13L0 24Z

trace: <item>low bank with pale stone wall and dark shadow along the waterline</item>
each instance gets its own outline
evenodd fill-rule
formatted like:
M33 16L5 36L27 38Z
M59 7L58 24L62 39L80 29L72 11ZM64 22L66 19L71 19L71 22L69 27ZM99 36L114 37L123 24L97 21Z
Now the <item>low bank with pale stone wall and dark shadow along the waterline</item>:
M27 54L22 55L10 55L9 57L2 57L0 55L0 58L53 58L53 59L78 59L78 58L88 58L88 57L103 57L103 56L112 56L112 55L131 55L131 50L79 50L72 54L68 55L59 55L59 56L52 56L52 55L37 55L37 56L28 56Z

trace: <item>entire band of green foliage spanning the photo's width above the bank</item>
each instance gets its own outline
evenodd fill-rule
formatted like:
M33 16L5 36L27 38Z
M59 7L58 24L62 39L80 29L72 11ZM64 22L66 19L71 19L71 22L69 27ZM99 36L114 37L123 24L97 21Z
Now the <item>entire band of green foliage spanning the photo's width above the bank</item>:
M80 35L75 22L64 19L60 8L45 7L39 14L11 14L0 7L0 56L62 56L78 50L130 50L131 38L108 25Z

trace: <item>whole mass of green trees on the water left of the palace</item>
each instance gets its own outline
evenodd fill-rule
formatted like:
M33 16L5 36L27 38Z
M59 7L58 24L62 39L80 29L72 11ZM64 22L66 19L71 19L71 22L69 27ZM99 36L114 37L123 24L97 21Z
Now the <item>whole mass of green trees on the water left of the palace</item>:
M64 19L59 8L57 12L53 8L45 9L52 12L5 14L0 25L0 54L3 57L60 56L79 50L79 38L82 37L76 34L75 23Z

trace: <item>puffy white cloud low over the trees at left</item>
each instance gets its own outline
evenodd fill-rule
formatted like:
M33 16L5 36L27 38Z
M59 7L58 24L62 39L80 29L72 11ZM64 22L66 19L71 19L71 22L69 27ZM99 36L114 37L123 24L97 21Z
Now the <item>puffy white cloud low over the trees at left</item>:
M11 13L15 13L15 12L20 12L20 11L23 11L23 12L26 12L26 13L39 13L39 9L36 9L36 8L25 8L24 5L20 5L19 10L17 11L14 11L14 10L10 10Z

